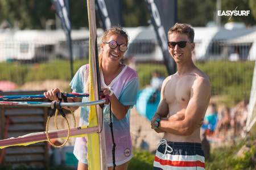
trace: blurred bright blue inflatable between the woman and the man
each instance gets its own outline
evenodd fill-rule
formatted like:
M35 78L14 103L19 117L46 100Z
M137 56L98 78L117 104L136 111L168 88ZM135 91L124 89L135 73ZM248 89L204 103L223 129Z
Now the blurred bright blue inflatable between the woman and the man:
M139 114L151 121L158 104L160 102L160 92L152 87L139 91L137 96L136 109Z

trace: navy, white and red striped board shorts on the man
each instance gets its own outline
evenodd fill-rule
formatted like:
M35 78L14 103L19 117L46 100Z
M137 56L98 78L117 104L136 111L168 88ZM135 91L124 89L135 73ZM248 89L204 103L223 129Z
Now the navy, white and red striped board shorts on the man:
M154 170L204 168L201 143L167 142L161 139L155 154Z

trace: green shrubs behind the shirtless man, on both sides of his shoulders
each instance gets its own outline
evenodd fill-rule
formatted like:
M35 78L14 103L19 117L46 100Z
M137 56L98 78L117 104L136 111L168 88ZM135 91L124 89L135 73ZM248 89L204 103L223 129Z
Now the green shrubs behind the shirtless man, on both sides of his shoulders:
M251 82L253 79L254 61L209 61L196 62L195 65L209 76L212 85L212 96L226 96L224 103L228 105L233 105L238 101L249 99ZM151 73L154 70L159 70L163 75L167 76L165 65L149 63L138 64L137 72L140 88L144 88L150 84Z

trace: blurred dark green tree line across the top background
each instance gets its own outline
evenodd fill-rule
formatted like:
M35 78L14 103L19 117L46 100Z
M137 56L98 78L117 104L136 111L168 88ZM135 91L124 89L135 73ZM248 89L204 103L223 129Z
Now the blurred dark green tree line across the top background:
M85 0L72 0L70 15L73 29L88 27ZM256 23L256 1L221 0L221 10L250 10L249 16L221 16L221 24L228 21L243 22L247 26ZM164 9L163 9L164 10ZM189 23L195 27L204 27L216 18L216 1L178 0L177 22ZM47 20L55 20L55 11L51 1L36 0L0 0L0 23L6 21L11 27L20 29L45 29ZM99 19L99 18L97 18ZM144 0L122 1L123 27L138 27L150 24L150 14ZM99 23L99 22L97 22ZM100 27L100 25L98 25Z

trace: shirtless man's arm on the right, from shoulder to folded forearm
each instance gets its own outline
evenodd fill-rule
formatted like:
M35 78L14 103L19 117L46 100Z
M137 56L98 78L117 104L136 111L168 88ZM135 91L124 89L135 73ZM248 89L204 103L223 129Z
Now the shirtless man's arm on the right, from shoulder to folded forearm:
M191 88L185 117L183 120L162 120L159 129L176 135L191 135L204 117L210 100L210 82L205 78L197 78Z

